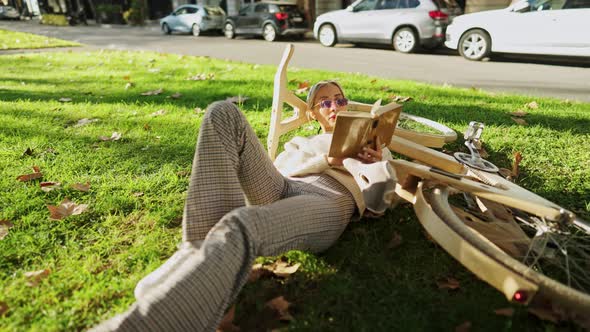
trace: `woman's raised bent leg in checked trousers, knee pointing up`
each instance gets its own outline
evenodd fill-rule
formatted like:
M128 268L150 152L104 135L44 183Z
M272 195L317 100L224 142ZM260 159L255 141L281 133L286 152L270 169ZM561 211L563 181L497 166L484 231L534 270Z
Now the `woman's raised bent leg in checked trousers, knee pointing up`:
M276 170L242 112L211 104L203 117L183 214L183 240L202 240L229 211L281 198L286 180Z

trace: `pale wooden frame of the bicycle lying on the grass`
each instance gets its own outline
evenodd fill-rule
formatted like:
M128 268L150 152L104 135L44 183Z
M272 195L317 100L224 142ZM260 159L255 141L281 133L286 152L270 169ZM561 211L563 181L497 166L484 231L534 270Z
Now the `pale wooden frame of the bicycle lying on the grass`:
M272 115L267 140L268 154L273 160L276 157L280 136L299 128L309 121L306 116L307 104L290 91L287 86L287 66L293 51L293 45L288 45L283 53L274 80ZM282 120L284 103L293 107L294 116ZM369 111L371 106L369 104L350 102L349 109ZM438 130L440 134L425 134L396 128L388 148L419 162L391 161L398 178L396 193L413 204L422 226L445 251L480 279L501 291L508 300L514 300L517 292L525 292L527 297L524 303L528 303L538 290L537 283L531 278L514 273L501 262L484 255L469 241L466 241L464 237L453 231L433 211L428 203L423 190L425 183L445 184L476 197L514 207L547 220L561 218L561 208L498 175L490 173L480 175L485 177L483 182L490 184L473 181L467 176L469 169L463 164L452 156L429 148L442 147L445 143L456 140L457 135L452 129L421 117L404 113L402 113L401 117L420 122ZM480 237L480 240L495 246L476 231L473 231L473 236ZM523 303L523 301L520 301L520 303Z

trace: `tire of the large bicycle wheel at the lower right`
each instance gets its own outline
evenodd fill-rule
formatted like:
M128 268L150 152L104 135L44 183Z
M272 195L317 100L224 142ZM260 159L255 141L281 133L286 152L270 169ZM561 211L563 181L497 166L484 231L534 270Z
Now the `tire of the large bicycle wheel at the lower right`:
M558 304L580 315L587 315L588 312L590 312L590 295L588 293L574 289L541 274L514 259L499 247L482 240L478 235L482 235L481 233L478 233L471 227L467 226L465 222L453 212L451 204L449 203L449 190L450 188L448 186L437 185L429 194L426 194L426 197L436 215L439 216L440 219L459 237L477 248L477 250L485 256L498 261L509 270L513 271L516 275L524 277L536 284L538 286L538 291L535 296L542 296L542 298L549 299L552 303Z

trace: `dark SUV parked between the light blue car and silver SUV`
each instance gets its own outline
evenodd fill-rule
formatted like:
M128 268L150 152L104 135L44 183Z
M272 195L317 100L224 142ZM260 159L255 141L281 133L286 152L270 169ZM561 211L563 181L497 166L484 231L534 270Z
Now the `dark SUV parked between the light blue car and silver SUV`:
M281 1L262 1L247 4L235 16L225 21L225 36L261 35L267 41L279 36L303 38L310 29L305 15L297 5Z

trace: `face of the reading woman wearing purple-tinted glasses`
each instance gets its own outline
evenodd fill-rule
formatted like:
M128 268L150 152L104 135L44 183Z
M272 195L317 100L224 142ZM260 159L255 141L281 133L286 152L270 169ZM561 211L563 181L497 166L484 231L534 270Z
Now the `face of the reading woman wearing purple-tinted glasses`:
M336 114L346 111L346 105L342 105L346 104L346 102L342 101L343 98L344 95L334 84L324 85L318 90L314 100L315 106L312 110L312 117L318 120L324 132L332 132L336 123ZM322 103L324 101L328 102ZM326 107L325 104L330 105Z

